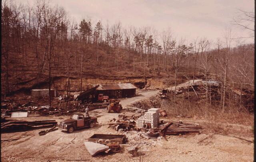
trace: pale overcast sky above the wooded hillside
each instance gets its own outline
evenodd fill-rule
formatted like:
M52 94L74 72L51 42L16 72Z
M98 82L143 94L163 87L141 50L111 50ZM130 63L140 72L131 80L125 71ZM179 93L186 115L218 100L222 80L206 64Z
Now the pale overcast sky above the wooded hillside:
M33 4L35 0L16 0ZM192 41L206 37L222 39L226 28L233 38L248 36L247 31L231 25L238 9L254 11L254 0L50 0L64 7L70 18L79 22L91 19L95 25L120 21L122 27L151 26L159 33L170 27L174 38ZM246 40L249 43L253 39Z

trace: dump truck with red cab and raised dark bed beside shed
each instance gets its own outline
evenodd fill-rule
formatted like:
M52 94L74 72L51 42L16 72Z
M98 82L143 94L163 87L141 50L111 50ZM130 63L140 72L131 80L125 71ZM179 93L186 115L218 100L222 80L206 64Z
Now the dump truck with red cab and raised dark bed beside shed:
M81 101L82 103L96 103L96 102L108 102L108 96L103 94L98 94L96 88L100 85L97 85L91 89L88 89L76 97L76 101Z

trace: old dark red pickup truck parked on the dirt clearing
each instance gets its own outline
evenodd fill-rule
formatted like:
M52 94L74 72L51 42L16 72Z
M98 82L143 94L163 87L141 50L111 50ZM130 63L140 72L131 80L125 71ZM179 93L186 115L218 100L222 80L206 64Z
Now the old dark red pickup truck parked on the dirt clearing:
M68 133L72 133L76 129L80 128L92 128L97 123L97 118L84 117L83 114L73 114L70 119L61 121L58 124L58 128Z

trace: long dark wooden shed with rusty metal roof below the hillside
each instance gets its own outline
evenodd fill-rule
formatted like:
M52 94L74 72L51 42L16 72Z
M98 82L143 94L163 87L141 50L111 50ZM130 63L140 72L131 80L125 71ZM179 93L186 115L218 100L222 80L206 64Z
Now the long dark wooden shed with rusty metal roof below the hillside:
M98 94L102 93L110 98L134 97L136 95L136 87L132 83L100 84L96 91Z

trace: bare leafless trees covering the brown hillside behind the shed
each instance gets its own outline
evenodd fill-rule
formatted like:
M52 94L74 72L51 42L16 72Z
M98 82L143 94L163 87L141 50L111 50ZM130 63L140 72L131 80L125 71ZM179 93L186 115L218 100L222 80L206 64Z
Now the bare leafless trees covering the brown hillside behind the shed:
M88 65L117 73L143 71L144 77L150 73L174 74L175 86L179 73L192 73L193 80L198 73L206 80L211 74L223 83L223 109L228 88L254 87L254 45L231 47L231 30L215 42L207 38L189 42L174 38L170 28L158 32L153 27L123 27L121 22L93 24L90 19L77 23L62 7L44 0L33 6L5 0L1 11L4 97L10 92L11 71L18 78L28 67L38 77L47 73L49 89L52 73L64 67L68 96L70 73L80 75L82 91L82 76Z

